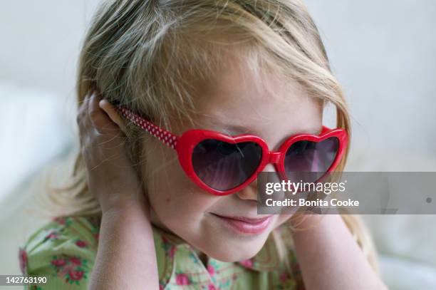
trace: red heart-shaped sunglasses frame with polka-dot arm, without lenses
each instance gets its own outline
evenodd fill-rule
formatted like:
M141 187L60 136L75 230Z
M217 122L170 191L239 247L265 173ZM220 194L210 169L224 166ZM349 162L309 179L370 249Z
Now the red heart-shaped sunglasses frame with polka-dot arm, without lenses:
M297 141L306 140L319 143L323 140L326 140L327 138L338 138L338 152L336 152L335 159L333 160L331 166L328 167L326 173L333 172L333 170L335 170L336 166L341 161L343 154L346 152L346 147L348 145L348 133L346 132L346 130L344 130L343 128L330 129L326 126L322 126L322 130L319 135L313 135L308 133L291 135L284 141L284 143L281 143L279 150L276 151L269 150L269 147L266 144L265 140L263 140L259 136L250 134L230 136L212 130L193 129L185 131L179 137L163 128L158 127L149 120L145 120L145 118L142 118L140 115L133 113L133 111L129 110L128 108L120 106L117 107L117 109L125 118L128 118L130 121L135 123L135 125L146 130L148 133L162 141L162 143L165 143L166 145L172 147L172 149L175 149L180 165L185 171L187 177L189 177L192 182L194 182L203 190L212 193L212 195L231 195L234 192L238 192L239 190L244 189L244 187L250 185L251 182L256 180L258 173L262 172L262 170L264 170L264 167L269 163L274 165L276 172L279 174L279 177L282 180L287 180L284 165L286 151L289 149L289 147L291 147L291 145L293 145ZM194 150L194 147L196 147L198 143L200 143L202 140L206 139L224 141L230 144L242 142L256 143L261 147L262 150L262 157L258 167L256 168L256 170L254 170L253 174L249 178L247 178L246 181L244 181L241 185L238 185L237 187L233 187L229 190L215 190L214 188L209 187L209 185L205 184L202 180L199 179L197 174L194 172L194 168L192 165L192 151ZM322 177L320 178L320 180L321 179Z

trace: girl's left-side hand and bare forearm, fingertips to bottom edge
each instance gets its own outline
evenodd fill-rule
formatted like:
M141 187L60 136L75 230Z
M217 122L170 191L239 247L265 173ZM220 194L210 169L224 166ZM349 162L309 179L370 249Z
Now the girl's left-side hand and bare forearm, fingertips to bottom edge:
M126 155L122 120L110 103L91 95L83 100L77 123L88 187L102 209L88 289L158 289L149 208Z

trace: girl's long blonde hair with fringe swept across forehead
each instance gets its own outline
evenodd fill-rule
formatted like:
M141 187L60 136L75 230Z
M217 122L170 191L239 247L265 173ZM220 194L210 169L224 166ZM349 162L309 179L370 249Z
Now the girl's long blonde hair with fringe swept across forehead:
M97 90L111 103L128 106L172 130L196 112L194 81L220 67L220 56L237 47L252 73L271 71L298 81L313 98L336 106L336 123L351 135L345 96L331 73L316 25L299 0L108 0L100 4L83 43L78 103ZM128 154L139 164L149 136L128 125ZM346 164L348 150L337 170ZM145 160L146 162L146 160ZM137 168L140 170L140 167ZM141 175L142 176L142 175ZM65 215L98 214L78 152L71 184L51 192L68 204ZM371 264L370 236L360 218L343 214Z

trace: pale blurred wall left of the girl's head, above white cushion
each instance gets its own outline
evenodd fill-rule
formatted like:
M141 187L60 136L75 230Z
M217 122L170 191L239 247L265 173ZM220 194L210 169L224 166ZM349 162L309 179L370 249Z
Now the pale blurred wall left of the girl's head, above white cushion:
M95 0L1 0L0 79L71 95Z

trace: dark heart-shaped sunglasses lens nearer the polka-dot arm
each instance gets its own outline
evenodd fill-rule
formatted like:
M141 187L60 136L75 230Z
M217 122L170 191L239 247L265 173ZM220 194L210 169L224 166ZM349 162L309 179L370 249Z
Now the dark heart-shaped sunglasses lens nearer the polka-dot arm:
M194 147L192 166L200 180L215 190L230 190L259 166L262 149L252 142L230 144L207 139Z

